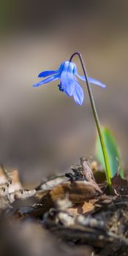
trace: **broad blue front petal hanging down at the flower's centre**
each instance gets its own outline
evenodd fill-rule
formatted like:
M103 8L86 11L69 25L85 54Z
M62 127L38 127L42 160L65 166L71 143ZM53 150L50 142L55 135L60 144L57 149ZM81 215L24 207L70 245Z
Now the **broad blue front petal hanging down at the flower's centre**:
M74 64L65 61L61 71L61 88L68 96L72 96L75 89Z

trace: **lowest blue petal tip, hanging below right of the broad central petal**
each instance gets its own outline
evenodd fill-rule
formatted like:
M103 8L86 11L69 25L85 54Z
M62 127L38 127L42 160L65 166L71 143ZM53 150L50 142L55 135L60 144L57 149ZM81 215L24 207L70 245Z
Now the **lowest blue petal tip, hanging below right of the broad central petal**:
M75 86L75 90L73 92L73 97L74 97L75 102L78 105L83 104L83 99L84 99L83 89L81 88L81 86L78 83Z

